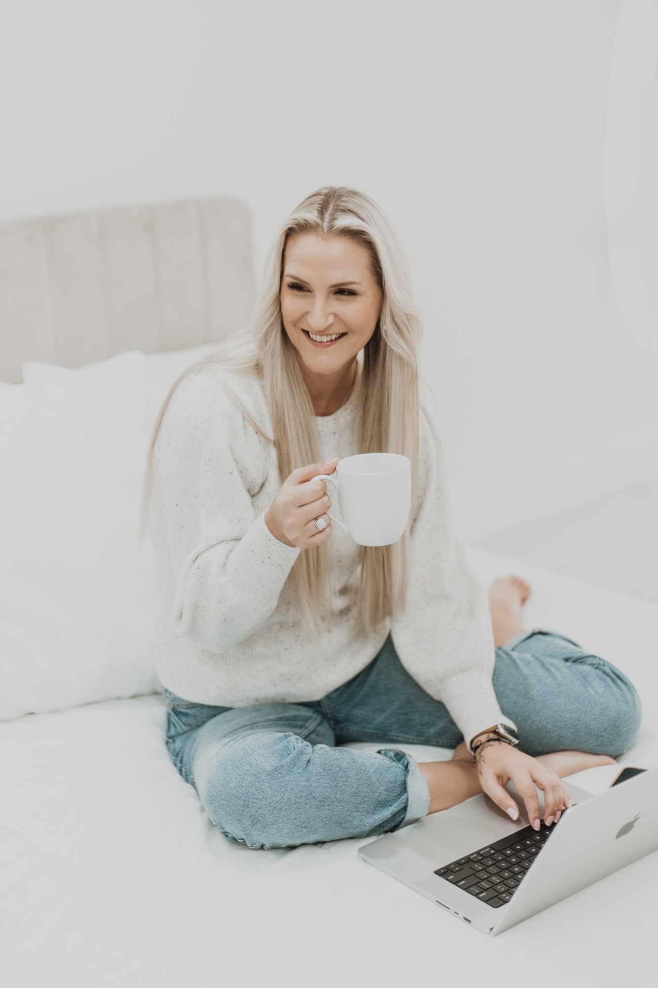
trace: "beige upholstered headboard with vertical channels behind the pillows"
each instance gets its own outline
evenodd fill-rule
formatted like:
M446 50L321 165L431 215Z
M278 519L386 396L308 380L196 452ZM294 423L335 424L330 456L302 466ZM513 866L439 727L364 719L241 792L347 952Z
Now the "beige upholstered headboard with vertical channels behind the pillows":
M228 197L0 223L0 380L213 343L245 326L251 224Z

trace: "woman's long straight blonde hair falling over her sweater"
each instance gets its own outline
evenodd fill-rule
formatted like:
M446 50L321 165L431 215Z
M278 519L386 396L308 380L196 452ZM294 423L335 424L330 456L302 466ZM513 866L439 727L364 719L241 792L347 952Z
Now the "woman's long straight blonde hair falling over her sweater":
M153 450L169 400L186 377L215 369L257 374L263 382L273 436L267 436L232 395L262 439L273 443L283 481L293 469L322 459L313 406L281 312L281 285L288 238L299 233L347 236L370 251L372 274L382 291L381 314L364 348L356 410L360 453L402 453L412 464L412 487L418 469L419 373L421 318L413 301L411 279L402 249L375 203L352 189L328 187L308 196L284 224L266 262L264 286L248 330L221 345L179 377L158 416L148 456L145 510L150 490ZM226 384L224 383L226 387ZM230 388L226 387L230 392ZM407 587L408 527L393 545L360 546L358 625L371 629L399 613ZM291 572L297 606L314 629L329 617L331 574L326 545L300 552Z

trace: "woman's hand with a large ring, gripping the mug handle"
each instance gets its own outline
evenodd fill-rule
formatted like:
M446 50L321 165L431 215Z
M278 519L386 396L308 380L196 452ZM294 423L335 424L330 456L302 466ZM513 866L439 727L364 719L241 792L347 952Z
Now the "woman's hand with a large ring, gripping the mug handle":
M318 473L333 473L338 459L329 463L313 463L292 470L265 513L268 529L285 545L296 545L298 549L310 549L331 537L331 519L326 514L331 508L323 480L311 478ZM318 532L315 519L323 518L327 523L323 532Z

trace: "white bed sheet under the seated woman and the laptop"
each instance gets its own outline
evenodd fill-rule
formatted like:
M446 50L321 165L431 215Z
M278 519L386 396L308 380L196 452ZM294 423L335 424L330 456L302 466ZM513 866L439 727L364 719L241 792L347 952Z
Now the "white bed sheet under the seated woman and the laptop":
M645 722L621 761L658 764L658 608L472 558L485 579L531 578L527 623L628 672ZM169 762L163 720L156 695L0 724L7 988L655 983L658 853L491 940L362 862L360 841L274 852L225 841ZM578 782L604 788L610 770Z

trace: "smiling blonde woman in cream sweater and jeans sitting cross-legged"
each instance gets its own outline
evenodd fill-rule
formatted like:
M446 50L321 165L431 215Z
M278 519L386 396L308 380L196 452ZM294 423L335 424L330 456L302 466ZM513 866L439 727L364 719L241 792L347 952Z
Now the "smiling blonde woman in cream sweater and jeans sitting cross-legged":
M183 375L156 428L167 745L214 825L252 848L378 834L482 789L516 819L510 780L538 829L535 783L550 824L560 777L612 761L638 727L617 669L523 629L523 581L496 581L490 612L419 406L420 333L380 210L321 189L273 248L252 329ZM312 478L386 451L412 463L409 525L366 548ZM336 747L375 739L377 754ZM417 764L400 742L454 757Z

